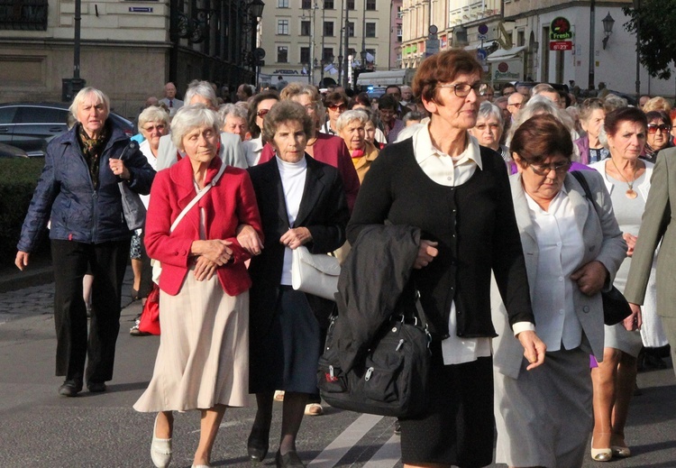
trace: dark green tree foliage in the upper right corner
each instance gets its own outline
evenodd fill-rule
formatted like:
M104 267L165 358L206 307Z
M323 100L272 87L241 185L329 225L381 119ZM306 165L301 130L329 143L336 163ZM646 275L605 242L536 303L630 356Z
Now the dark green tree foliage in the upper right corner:
M676 64L676 0L641 0L640 6L625 6L622 11L631 19L628 32L638 36L641 64L651 77L671 78L670 65Z

